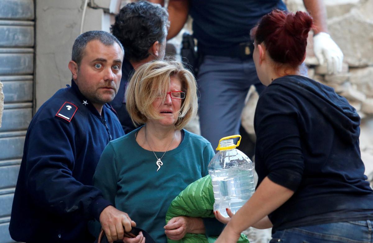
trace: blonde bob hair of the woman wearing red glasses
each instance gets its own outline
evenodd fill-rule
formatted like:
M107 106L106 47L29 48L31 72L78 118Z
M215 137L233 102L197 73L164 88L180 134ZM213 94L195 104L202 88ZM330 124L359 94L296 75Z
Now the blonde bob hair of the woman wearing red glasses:
M170 88L170 77L181 81L179 118L175 129L182 129L197 114L197 85L192 73L177 61L151 61L139 66L132 75L126 89L126 108L135 126L145 124L148 119L161 119L152 103L157 98L166 99Z

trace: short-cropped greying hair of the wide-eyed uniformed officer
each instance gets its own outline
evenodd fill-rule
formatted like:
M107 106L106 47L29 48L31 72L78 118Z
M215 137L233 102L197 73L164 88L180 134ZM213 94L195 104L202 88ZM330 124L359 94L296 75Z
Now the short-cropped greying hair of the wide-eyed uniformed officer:
M93 40L99 40L104 45L113 45L114 43L117 43L120 49L122 49L124 55L123 46L114 35L106 31L87 31L79 35L75 39L74 45L72 46L71 60L75 61L78 66L80 66L83 59L85 47L87 46L88 42Z

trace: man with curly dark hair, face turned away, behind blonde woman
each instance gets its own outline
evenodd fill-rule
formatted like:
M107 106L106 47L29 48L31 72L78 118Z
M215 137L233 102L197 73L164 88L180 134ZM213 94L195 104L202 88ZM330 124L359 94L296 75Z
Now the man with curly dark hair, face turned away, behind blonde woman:
M147 1L129 3L115 16L111 31L122 43L125 58L119 91L110 104L117 111L125 133L135 129L126 110L124 95L129 76L141 64L163 59L168 28L167 10Z

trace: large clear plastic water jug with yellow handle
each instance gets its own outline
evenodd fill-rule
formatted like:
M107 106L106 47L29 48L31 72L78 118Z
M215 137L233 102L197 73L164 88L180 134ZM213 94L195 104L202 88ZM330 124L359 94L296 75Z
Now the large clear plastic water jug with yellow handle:
M233 138L239 138L236 145ZM240 142L240 135L220 139L218 152L208 166L215 198L214 211L224 217L228 217L226 208L235 214L255 191L253 163L236 149Z

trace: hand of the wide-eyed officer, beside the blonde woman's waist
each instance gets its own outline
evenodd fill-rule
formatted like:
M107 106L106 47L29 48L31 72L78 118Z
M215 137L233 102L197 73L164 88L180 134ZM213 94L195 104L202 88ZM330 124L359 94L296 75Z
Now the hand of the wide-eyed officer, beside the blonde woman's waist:
M124 230L129 232L132 227L136 226L135 221L132 221L128 214L119 211L113 206L107 206L101 212L100 223L110 243L115 240L122 240Z

